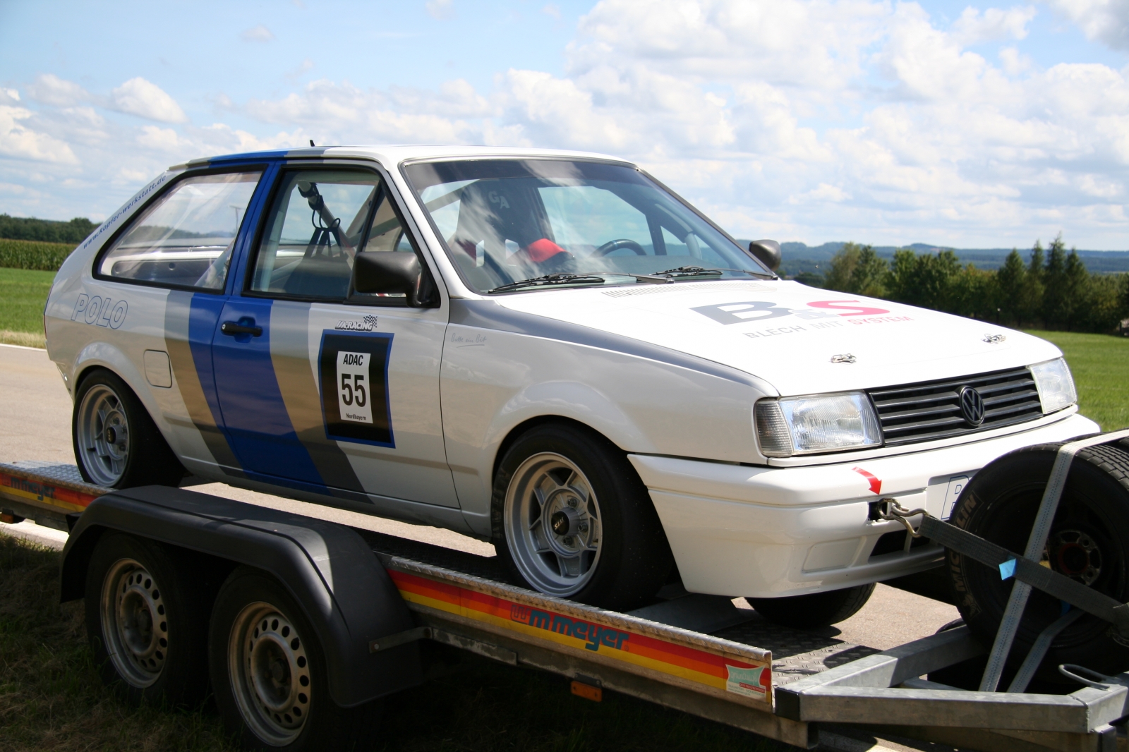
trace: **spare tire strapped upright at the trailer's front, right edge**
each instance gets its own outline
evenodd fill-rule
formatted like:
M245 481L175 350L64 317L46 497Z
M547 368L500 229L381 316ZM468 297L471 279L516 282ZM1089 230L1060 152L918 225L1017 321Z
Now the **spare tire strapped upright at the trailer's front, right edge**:
M951 522L1022 557L1060 446L1018 449L988 464L972 479ZM1122 443L1124 444L1124 443ZM1129 452L1111 445L1080 451L1051 524L1043 566L1120 603L1129 601ZM999 569L946 552L956 606L986 647L996 638L1014 578ZM1033 589L1008 662L1013 673L1039 633L1062 614L1064 604ZM1073 663L1103 674L1129 670L1129 641L1110 622L1086 614L1051 642L1036 677L1068 683L1057 667Z

